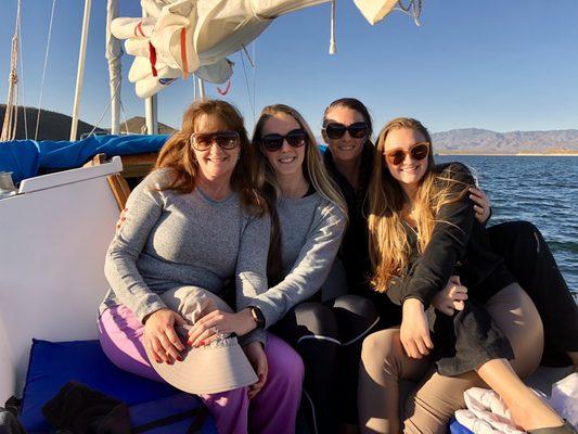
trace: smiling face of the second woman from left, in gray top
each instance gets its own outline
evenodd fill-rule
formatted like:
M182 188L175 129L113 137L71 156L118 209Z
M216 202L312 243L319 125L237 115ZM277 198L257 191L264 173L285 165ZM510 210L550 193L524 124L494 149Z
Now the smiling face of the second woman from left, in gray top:
M267 135L285 136L287 132L299 128L301 126L295 118L280 113L267 119L262 126L261 137ZM294 148L284 139L279 151L267 151L264 148L261 150L277 177L301 177L306 146L308 146L307 142L305 145Z

